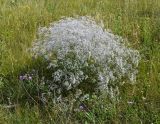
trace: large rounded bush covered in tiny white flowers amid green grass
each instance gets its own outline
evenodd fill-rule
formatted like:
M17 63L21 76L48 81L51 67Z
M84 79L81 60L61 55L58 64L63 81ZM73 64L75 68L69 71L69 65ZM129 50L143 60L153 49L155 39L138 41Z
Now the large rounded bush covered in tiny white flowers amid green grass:
M119 84L133 83L138 72L139 53L125 42L90 17L66 18L40 28L31 51L47 63L49 91L100 89L114 96Z

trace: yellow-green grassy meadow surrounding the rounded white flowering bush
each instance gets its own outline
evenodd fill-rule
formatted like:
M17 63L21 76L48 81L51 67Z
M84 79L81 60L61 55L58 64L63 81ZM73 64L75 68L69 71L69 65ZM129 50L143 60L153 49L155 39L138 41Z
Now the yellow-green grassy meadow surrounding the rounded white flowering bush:
M119 103L111 103L105 95L92 98L87 112L73 112L72 102L67 109L63 104L31 106L27 100L19 104L18 75L32 64L27 48L36 39L38 28L76 16L103 21L106 29L127 38L130 47L140 52L136 83L121 86ZM0 124L159 124L160 0L0 0L2 86ZM3 107L5 99L18 106Z

